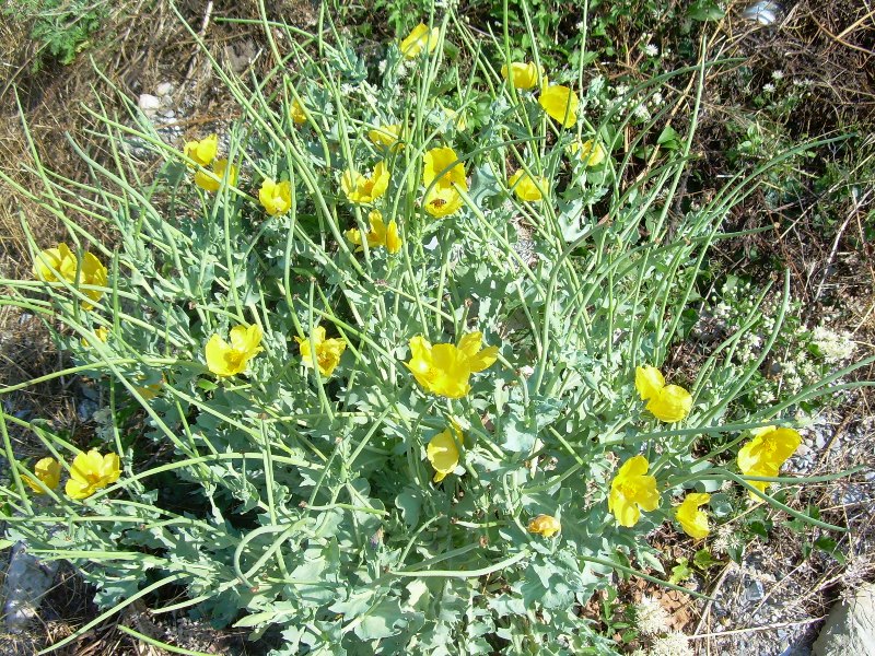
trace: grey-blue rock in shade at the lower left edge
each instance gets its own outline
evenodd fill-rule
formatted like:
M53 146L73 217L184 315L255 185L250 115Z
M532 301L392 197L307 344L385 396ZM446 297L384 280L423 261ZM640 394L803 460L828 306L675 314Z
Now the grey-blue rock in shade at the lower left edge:
M43 563L28 554L23 542L12 547L3 581L3 614L9 633L23 633L36 617L39 601L51 587L59 561Z

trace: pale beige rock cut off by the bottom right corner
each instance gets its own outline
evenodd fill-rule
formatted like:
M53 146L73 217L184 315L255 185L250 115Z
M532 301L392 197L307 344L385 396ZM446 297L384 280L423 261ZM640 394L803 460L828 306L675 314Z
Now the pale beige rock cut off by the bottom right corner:
M861 585L848 601L832 607L814 656L875 656L875 584Z

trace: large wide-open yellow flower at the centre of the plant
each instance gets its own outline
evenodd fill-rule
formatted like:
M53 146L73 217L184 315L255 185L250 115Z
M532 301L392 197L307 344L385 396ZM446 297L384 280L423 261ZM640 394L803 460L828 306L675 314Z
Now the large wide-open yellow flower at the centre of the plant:
M482 348L482 332L469 332L458 347L432 344L422 336L410 340L410 361L405 366L422 387L432 394L459 399L470 391L468 379L475 372L491 366L498 359L498 347Z

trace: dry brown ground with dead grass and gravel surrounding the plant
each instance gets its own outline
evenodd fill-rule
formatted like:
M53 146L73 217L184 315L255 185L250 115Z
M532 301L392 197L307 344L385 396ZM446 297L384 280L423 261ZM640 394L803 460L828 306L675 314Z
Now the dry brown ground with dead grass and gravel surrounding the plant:
M843 163L845 174L826 189L807 189L777 210L768 209L762 198L752 197L739 208L734 219L737 225L732 227L744 227L755 221L771 221L783 227L774 234L727 243L718 257L725 260L727 270L754 277L768 277L762 261L789 266L794 295L805 301L809 318L836 312L841 321L836 328L851 331L859 345L858 354L865 356L875 352L875 257L871 235L866 233L866 226L875 223L872 218L875 180L870 177L875 171L872 137L875 5L868 0L789 1L777 22L763 26L742 17L747 4L730 3L713 43L723 48L724 56L744 58L743 66L752 71L759 83L768 82L769 74L777 69L812 81L812 95L794 110L793 120L788 124L789 136L804 139L867 129L870 139L860 140L859 152ZM314 28L318 17L318 8L306 0L275 0L266 5L271 19L307 30ZM164 125L179 131L180 142L183 137L199 133L205 125L234 118L233 103L214 83L207 58L180 17L228 67L238 72L268 70L273 62L260 26L223 21L257 19L257 2L180 0L176 8L179 16L166 0L118 2L102 32L92 39L92 47L69 66L48 63L38 71L33 68L38 46L28 38L28 26L0 16L0 166L37 196L38 184L27 171L33 153L72 180L86 179L88 172L70 140L86 150L98 148L90 140L91 118L85 110L95 95L109 107L120 108L122 96L136 102L140 94L155 94L159 84L168 82L174 106L184 112L179 112L177 120ZM616 71L605 72L610 75ZM748 109L744 101L733 95L731 86L722 86L720 93L707 97L697 150L707 155L714 176L725 173L728 166L725 152L730 136L723 127L727 117L744 120L744 112ZM25 138L22 117L32 142ZM839 155L847 157L847 153ZM821 168L827 164L825 161ZM818 165L812 164L810 171L817 173ZM840 191L852 183L859 186L859 191L828 206L829 212L836 214L836 227L824 231L815 221L817 212L827 207L830 198L844 198ZM2 278L30 276L31 256L22 215L27 216L37 244L52 244L62 234L55 216L0 181ZM792 219L788 220L789 216ZM100 233L100 225L93 220L86 216L77 220ZM746 257L752 250L759 254L757 261ZM59 355L33 317L0 306L0 385L27 380L57 368ZM875 379L875 372L862 372L861 379ZM20 397L8 397L4 402L40 407L60 425L74 427L80 421L77 394L74 382L56 380L35 386ZM815 450L812 465L806 465L808 473L856 465L873 468L874 401L872 395L863 391L850 395L828 414L822 426L806 435ZM19 446L26 453L26 444ZM747 553L742 566L727 561L695 579L701 591L718 599L714 604L693 604L675 593L646 586L630 587L625 591L626 599L632 601L642 595L657 597L674 613L675 628L698 636L695 644L702 654L719 649L779 654L778 645L783 648L784 644L804 644L812 632L816 633L819 618L842 590L874 577L875 529L868 508L875 501L875 484L861 475L813 487L794 501L802 507L816 503L825 508L826 520L850 528L840 543L847 564L828 557L804 560L796 537L777 530L772 541ZM691 557L691 553L677 550L673 555ZM90 597L74 573L62 570L44 602L42 624L31 642L0 636L0 656L31 654L35 646L71 634L95 617ZM159 625L141 609L104 622L60 653L83 656L162 653L130 637L118 629L119 624L209 653L246 654L252 648L240 635L217 634L186 623L183 618L172 618ZM714 635L727 630L731 637ZM183 634L190 640L180 637Z

